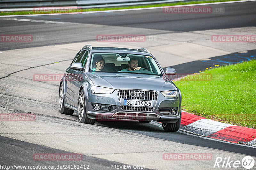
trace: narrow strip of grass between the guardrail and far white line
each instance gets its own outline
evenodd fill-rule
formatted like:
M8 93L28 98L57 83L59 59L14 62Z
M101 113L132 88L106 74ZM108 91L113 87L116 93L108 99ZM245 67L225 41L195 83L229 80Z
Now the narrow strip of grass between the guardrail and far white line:
M161 6L173 6L173 5L203 4L203 3L226 2L226 1L239 1L239 0L190 1L190 2L177 2L177 3L170 3L170 4L136 5L136 6L112 7L112 8L89 8L89 9L83 9L83 10L70 10L66 12L107 11L107 10L159 7L159 6L161 7ZM57 11L57 12L56 11L50 11L50 12L12 11L12 12L0 12L0 15L29 15L29 14L49 14L49 13L63 13L63 11Z

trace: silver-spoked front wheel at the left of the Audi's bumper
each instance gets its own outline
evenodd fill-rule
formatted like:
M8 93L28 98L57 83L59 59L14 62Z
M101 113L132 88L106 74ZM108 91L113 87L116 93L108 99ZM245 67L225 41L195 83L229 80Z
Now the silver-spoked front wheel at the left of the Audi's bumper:
M79 93L78 98L78 118L81 123L84 124L94 124L96 119L91 119L86 114L86 107L85 107L85 98L84 98L84 89Z

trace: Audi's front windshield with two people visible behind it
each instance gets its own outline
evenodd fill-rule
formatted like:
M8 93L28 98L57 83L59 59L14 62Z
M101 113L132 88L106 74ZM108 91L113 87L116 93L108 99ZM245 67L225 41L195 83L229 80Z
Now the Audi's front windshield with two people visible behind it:
M162 75L152 56L127 53L92 53L90 72Z

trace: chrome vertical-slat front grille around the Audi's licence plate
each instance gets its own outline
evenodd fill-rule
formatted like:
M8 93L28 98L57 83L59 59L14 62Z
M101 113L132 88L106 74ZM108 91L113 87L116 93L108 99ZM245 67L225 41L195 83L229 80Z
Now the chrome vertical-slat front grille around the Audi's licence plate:
M145 93L144 97L133 97L131 96L132 92L139 92L139 93ZM156 91L147 91L147 90L118 90L117 92L118 98L120 101L120 105L122 110L132 110L132 111L153 111L154 107L156 105L157 100L157 92ZM152 101L153 107L143 107L143 106L124 106L124 99L131 99L131 100L148 100Z

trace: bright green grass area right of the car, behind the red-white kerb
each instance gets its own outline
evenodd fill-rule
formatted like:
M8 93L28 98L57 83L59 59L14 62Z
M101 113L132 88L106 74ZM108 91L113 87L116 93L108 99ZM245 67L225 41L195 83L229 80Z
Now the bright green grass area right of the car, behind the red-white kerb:
M212 80L175 81L183 110L256 129L256 60L208 68L199 74L212 74Z

